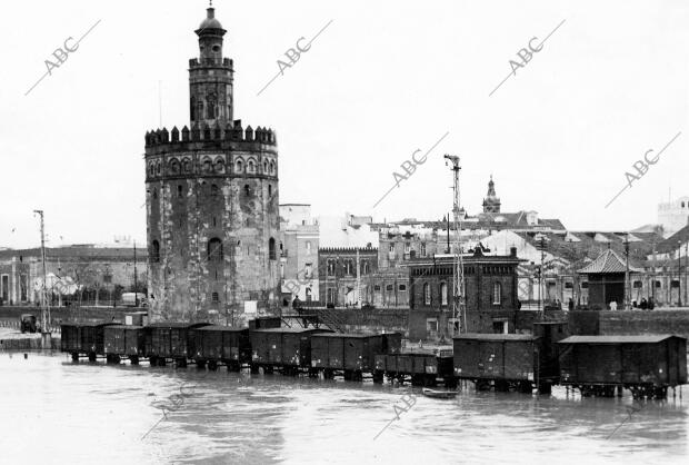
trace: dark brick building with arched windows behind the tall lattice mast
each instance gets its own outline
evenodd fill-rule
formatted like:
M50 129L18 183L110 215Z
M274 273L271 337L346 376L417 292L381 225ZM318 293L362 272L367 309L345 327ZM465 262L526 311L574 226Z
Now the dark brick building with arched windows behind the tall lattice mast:
M409 338L435 339L460 329L453 318L453 255L411 260L409 267ZM486 256L480 247L462 256L467 329L469 333L513 333L517 311L517 250L509 256Z

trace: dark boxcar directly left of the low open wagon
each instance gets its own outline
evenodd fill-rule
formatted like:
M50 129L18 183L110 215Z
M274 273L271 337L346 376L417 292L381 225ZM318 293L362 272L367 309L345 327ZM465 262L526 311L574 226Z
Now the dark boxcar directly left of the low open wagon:
M314 334L311 337L311 367L326 379L341 373L346 380L361 380L375 374L376 355L399 352L402 336L388 334ZM378 380L378 377L375 377Z

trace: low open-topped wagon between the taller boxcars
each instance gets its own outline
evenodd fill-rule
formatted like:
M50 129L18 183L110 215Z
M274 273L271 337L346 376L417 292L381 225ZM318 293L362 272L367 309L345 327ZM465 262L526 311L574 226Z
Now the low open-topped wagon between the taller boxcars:
M405 383L410 377L413 386L435 386L441 379L446 387L456 387L452 372L452 354L449 350L438 354L432 350L381 354L376 356L373 382L380 383L387 376Z

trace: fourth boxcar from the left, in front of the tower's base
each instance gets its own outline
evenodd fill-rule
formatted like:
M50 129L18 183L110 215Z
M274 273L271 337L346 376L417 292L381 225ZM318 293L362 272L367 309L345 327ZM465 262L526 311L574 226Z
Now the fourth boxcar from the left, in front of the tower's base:
M216 369L218 363L224 363L229 370L239 372L243 364L251 362L249 328L203 326L192 329L190 339L193 340L191 358L199 366L208 364L209 369Z

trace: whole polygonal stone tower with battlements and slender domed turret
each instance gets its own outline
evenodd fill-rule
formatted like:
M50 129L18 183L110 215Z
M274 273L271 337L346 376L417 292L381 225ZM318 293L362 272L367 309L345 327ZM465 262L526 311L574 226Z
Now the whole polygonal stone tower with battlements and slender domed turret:
M216 320L278 308L278 149L233 120L232 60L214 9L189 60L190 127L146 133L152 320Z

